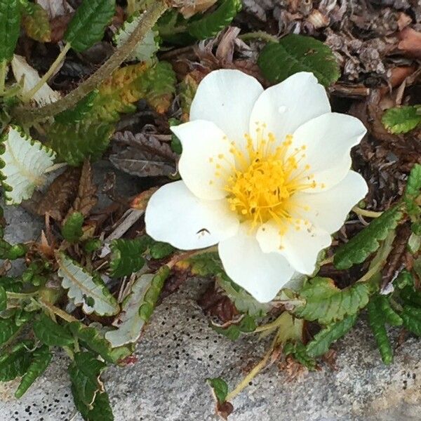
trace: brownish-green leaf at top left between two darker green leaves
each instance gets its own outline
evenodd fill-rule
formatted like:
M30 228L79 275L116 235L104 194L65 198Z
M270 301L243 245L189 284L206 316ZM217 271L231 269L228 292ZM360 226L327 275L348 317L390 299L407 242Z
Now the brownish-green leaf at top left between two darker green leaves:
M29 38L39 42L51 41L50 18L39 4L25 1L22 11L22 26Z

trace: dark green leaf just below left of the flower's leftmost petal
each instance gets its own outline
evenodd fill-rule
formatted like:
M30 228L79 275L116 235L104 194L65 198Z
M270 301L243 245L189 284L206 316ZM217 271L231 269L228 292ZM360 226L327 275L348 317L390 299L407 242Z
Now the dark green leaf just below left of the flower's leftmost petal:
M149 246L149 237L142 236L138 239L113 240L109 247L112 250L112 258L109 262L109 274L114 278L129 276L142 269L145 265L145 259L142 253L145 253Z

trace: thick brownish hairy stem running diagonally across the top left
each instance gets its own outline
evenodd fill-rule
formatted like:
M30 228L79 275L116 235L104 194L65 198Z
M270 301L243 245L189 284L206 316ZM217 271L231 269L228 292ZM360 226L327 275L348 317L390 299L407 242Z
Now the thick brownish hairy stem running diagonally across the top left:
M133 48L144 38L145 34L154 26L156 20L167 8L165 0L157 0L144 13L142 20L140 20L139 25L132 32L126 44L123 44L94 74L82 82L74 91L66 95L65 98L39 108L16 107L12 112L13 117L20 121L21 124L30 126L36 121L42 121L49 116L55 116L55 114L65 111L65 109L74 107L85 95L111 76L112 72L126 60Z

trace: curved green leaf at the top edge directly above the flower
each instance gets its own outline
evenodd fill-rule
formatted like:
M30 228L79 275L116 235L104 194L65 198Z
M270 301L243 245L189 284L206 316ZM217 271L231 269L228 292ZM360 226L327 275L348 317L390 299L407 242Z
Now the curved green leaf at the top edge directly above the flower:
M189 23L187 30L196 39L211 38L229 26L239 11L241 0L222 0L213 13Z

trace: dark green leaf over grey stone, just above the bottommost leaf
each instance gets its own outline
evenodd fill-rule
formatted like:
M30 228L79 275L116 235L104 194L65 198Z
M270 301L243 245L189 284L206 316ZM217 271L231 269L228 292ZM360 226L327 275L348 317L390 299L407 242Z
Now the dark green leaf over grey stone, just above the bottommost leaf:
M91 408L96 394L103 392L104 386L100 381L100 375L106 366L91 352L74 354L74 361L70 364L68 371L76 408L79 409L81 404Z

